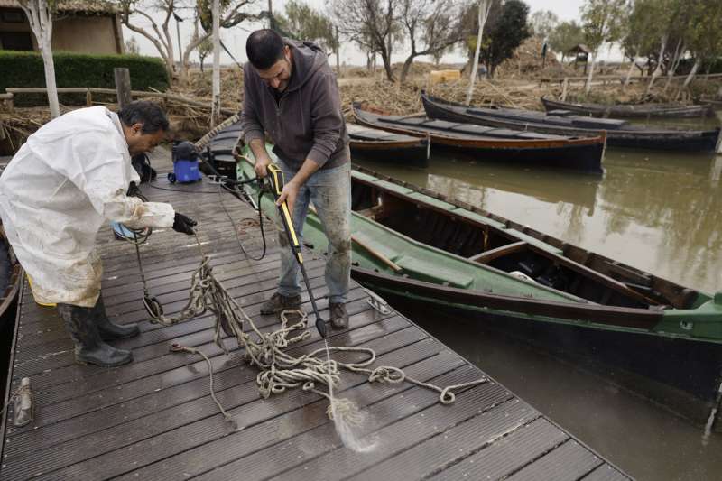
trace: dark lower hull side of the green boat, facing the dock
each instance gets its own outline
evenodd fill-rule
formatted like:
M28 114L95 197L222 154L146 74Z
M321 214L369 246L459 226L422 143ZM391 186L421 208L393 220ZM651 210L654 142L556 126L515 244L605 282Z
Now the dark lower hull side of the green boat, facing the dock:
M405 315L434 319L438 312L445 322L443 329L465 328L467 335L471 331L470 335L478 336L493 331L539 347L699 425L708 420L715 405L722 381L720 344L481 312L394 289L366 275L355 275L354 279ZM449 319L453 319L453 324L449 324ZM720 426L722 423L717 422L717 430Z

